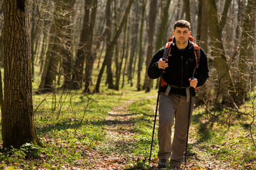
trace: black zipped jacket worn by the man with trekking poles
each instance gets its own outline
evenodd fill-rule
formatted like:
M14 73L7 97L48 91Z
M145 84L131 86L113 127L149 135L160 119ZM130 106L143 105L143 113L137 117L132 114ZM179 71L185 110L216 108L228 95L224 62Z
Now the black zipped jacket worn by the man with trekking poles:
M175 38L172 40L171 56L168 57L168 67L164 70L163 79L166 83L172 84L176 87L188 87L192 78L193 71L196 67L195 48L191 41L188 40L188 46L185 50L179 50L175 44ZM164 47L155 53L154 57L148 67L148 76L151 79L156 79L160 76L160 69L156 67L156 62L163 57ZM209 77L209 69L207 56L202 48L200 48L199 67L195 71L195 78L197 78L197 87L202 86ZM165 92L167 86L160 88L160 92ZM179 94L186 96L185 88L172 87L171 94ZM193 94L195 96L195 94Z

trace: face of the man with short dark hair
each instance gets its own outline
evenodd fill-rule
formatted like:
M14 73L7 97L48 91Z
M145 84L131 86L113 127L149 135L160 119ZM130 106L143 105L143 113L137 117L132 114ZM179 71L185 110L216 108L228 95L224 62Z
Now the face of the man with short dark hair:
M186 27L176 27L176 29L172 31L172 34L175 36L176 43L185 44L188 43L188 37L191 35L191 31Z

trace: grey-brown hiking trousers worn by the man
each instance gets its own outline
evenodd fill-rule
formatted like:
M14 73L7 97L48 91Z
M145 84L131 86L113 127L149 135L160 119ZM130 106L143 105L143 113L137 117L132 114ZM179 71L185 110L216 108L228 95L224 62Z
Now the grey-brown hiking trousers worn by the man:
M191 116L194 104L195 97L192 97ZM171 157L171 167L180 167L181 162L183 162L187 139L188 112L189 102L187 102L187 96L173 94L166 96L164 93L160 94L158 158L169 159ZM174 139L172 142L171 134L174 120Z

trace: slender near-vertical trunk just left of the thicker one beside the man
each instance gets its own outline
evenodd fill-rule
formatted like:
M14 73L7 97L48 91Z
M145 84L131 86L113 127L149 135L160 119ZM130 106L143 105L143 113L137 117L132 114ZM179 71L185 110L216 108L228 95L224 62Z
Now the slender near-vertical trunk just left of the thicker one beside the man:
M171 0L170 0L171 1ZM147 0L146 0L147 2ZM141 91L141 71L142 71L142 40L143 40L143 28L144 28L144 14L146 3L142 1L142 16L141 16L141 28L139 33L139 59L138 59L138 76L137 76L137 91Z

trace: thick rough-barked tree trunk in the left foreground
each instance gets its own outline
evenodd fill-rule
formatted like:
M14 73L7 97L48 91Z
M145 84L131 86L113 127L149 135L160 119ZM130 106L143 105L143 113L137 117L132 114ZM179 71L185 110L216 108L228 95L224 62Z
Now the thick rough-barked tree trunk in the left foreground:
M20 148L26 142L42 145L32 104L29 1L5 0L4 16L3 148Z

